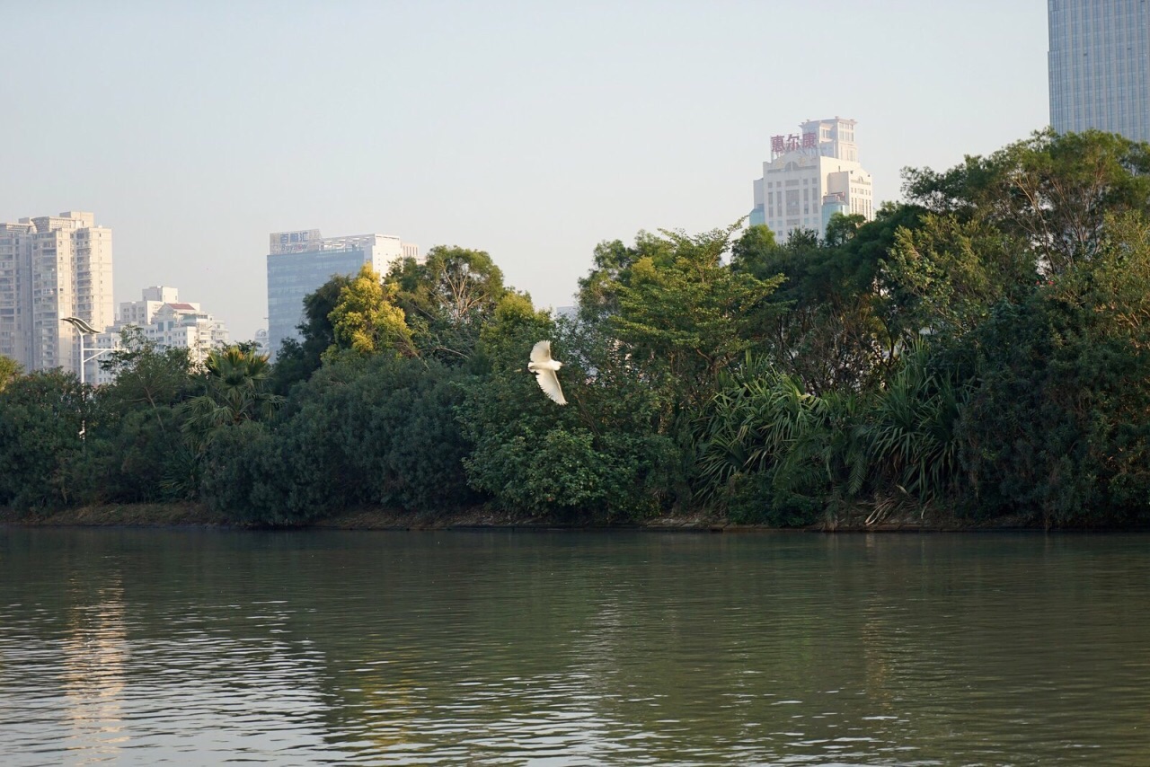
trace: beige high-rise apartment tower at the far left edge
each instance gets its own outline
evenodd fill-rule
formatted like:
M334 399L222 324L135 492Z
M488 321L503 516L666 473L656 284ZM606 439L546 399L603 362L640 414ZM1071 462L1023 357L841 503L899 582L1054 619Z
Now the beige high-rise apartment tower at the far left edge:
M79 331L64 317L112 324L112 230L75 210L0 223L0 354L25 370L78 375Z

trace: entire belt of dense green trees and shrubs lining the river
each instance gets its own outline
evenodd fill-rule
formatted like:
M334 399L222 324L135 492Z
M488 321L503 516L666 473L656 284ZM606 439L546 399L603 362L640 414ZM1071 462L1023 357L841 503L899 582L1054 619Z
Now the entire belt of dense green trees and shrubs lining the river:
M0 360L0 504L1145 521L1147 145L1043 132L906 192L822 237L603 243L574 317L436 247L308 296L274 376L250 345L190 368L140 337L95 389ZM544 339L566 406L526 367Z

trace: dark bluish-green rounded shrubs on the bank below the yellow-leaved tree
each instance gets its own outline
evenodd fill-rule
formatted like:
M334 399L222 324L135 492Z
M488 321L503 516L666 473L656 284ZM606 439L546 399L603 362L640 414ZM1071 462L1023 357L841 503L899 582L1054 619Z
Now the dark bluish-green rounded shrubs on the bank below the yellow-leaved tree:
M245 422L207 450L205 500L261 524L363 505L411 513L474 503L454 407L465 374L437 362L329 355L292 391L274 429Z

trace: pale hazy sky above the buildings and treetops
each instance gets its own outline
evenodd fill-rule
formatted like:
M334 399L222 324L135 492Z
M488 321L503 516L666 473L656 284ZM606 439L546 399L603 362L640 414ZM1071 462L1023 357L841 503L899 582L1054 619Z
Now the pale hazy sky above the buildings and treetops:
M0 221L92 210L116 301L251 338L273 231L488 251L572 304L605 239L752 206L769 137L858 121L876 200L1049 122L1043 0L0 0Z

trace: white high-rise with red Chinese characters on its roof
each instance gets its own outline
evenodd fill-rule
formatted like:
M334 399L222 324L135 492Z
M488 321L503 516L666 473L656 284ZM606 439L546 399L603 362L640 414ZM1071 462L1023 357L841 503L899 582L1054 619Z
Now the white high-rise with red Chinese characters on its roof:
M799 128L770 137L770 160L754 182L751 224L766 224L783 243L796 229L825 235L835 213L873 221L874 186L858 161L854 121L808 120Z

